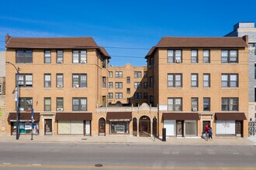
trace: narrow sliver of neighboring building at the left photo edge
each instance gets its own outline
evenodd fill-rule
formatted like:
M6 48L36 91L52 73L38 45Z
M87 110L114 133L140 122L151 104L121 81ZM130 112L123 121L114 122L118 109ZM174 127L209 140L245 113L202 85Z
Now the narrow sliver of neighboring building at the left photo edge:
M0 52L0 135L5 133L5 51Z

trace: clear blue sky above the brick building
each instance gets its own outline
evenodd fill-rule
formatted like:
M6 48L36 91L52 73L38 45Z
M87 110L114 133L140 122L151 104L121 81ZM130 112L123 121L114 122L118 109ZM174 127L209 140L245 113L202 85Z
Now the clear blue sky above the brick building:
M224 36L237 22L256 22L255 7L255 0L2 1L0 50L6 33L92 36L106 47L113 66L144 66L144 56L162 36Z

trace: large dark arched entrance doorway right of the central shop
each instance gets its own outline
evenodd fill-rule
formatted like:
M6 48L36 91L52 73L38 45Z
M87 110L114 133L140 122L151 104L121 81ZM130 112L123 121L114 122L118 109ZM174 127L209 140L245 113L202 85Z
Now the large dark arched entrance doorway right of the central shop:
M139 133L142 137L150 136L150 117L140 117Z

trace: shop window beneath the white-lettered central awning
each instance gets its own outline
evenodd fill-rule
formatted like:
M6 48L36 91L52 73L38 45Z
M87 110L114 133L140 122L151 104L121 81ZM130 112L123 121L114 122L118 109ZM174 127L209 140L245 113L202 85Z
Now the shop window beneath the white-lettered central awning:
M110 122L110 133L111 134L129 134L128 121L112 121Z

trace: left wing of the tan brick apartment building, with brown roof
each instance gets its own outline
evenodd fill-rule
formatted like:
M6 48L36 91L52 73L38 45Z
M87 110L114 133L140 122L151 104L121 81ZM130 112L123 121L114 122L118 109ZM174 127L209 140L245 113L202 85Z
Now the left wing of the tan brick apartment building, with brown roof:
M106 104L109 54L91 37L5 37L5 134L16 134L15 80L19 80L20 134L96 134L92 114ZM34 109L32 125L31 108ZM97 121L95 121L97 122Z

